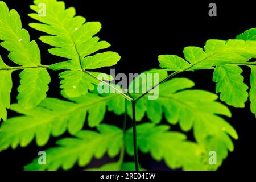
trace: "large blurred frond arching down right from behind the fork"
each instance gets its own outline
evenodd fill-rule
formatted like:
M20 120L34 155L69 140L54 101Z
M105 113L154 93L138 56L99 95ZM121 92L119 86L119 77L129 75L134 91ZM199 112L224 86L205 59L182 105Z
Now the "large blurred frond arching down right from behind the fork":
M164 77L166 74L162 72L160 77ZM131 84L139 79L140 76L135 78ZM149 82L151 81L149 80ZM145 82L148 84L148 80ZM221 115L231 117L231 113L228 107L216 101L218 98L216 94L204 90L188 90L194 85L187 78L173 78L164 82L159 85L158 99L148 100L147 97L142 97L137 101L136 119L141 121L147 115L150 121L159 123L164 115L172 125L179 123L183 131L193 128L196 141L203 144L208 152L213 150L218 153L218 159L220 159L218 164L220 165L226 158L228 150L233 151L233 143L229 136L238 138L233 127L221 118ZM132 96L137 98L140 94L132 94ZM131 117L130 106L127 109ZM207 139L214 144L205 142Z

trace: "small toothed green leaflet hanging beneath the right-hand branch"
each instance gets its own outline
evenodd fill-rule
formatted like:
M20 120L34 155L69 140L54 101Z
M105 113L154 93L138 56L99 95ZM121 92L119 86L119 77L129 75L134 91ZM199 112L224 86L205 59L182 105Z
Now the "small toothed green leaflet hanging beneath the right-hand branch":
M248 98L248 86L243 83L242 69L238 65L222 65L216 67L213 81L216 82L216 93L220 93L221 101L234 107L245 107Z

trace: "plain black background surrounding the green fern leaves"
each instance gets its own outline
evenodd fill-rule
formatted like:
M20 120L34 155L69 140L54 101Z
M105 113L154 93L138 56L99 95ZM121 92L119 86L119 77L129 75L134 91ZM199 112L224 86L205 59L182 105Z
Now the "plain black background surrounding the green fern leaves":
M63 61L60 57L49 55L50 47L38 40L43 35L28 26L34 22L27 16L32 11L29 5L32 1L10 0L5 1L10 9L16 9L22 18L23 28L26 28L39 45L42 54L42 64L49 65ZM151 68L159 68L158 55L170 54L183 57L183 48L186 46L203 47L208 39L235 38L241 32L256 27L255 10L250 1L65 1L67 7L74 6L77 14L85 16L87 21L100 21L102 30L101 40L107 40L112 47L109 50L118 52L122 59L115 65L116 73L140 73ZM217 17L208 16L210 2L217 4ZM253 1L252 1L253 2ZM1 17L0 17L1 18ZM7 51L0 48L3 60L7 60ZM9 63L9 62L8 62ZM104 71L109 73L109 68ZM243 75L249 85L250 70L245 68ZM52 76L48 97L60 97L59 72L49 71ZM188 77L196 82L199 89L214 92L215 84L212 82L213 71L196 71L181 73L179 77ZM12 102L16 102L16 88L19 85L19 72L13 73ZM253 146L256 119L250 112L249 102L245 109L230 107L233 117L228 119L237 130L239 139L234 141L234 152L219 168L220 171L250 170L249 166L256 162ZM9 117L16 115L9 111ZM106 115L104 121L122 126L122 117L112 113ZM143 119L144 122L147 118ZM131 126L130 122L127 127ZM172 129L180 131L178 126ZM191 132L189 139L193 139ZM65 134L64 136L68 136ZM61 136L59 138L62 138ZM34 159L39 150L54 146L58 138L51 138L44 147L37 147L35 141L26 148L6 150L0 153L0 168L5 170L22 170L23 166ZM154 162L150 155L139 154L142 167L146 169L168 169L163 162ZM117 158L116 158L117 159ZM126 160L133 158L126 156ZM90 167L100 166L115 159L105 156L102 160L94 159ZM75 167L74 169L81 169Z

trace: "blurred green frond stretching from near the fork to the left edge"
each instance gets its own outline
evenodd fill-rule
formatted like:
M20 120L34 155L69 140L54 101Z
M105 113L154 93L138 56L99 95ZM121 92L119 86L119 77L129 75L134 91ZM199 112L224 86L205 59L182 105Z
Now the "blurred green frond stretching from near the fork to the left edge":
M100 97L88 93L79 98L72 98L74 102L46 98L39 106L31 110L25 110L13 104L10 109L24 115L7 119L7 122L2 123L0 151L9 146L15 149L19 144L21 147L26 147L34 137L38 146L44 146L51 135L57 137L66 130L75 135L84 126L87 114L88 125L98 126L104 119L106 107L114 104L115 101L111 100L118 96L118 94L113 94ZM119 106L124 108L124 105Z

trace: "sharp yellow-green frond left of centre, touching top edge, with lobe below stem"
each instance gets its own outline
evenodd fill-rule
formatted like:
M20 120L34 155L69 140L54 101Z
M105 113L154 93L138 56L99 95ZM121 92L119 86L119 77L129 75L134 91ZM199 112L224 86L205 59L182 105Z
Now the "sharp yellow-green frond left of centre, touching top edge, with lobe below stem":
M110 51L92 55L110 46L108 42L99 41L98 37L94 37L101 29L100 22L85 23L85 18L75 16L76 12L73 7L65 9L65 4L61 1L36 0L34 3L31 9L36 13L29 14L29 16L41 23L31 23L30 26L50 34L39 39L55 47L49 49L52 55L69 59L69 61L56 63L49 67L53 70L69 70L60 73L63 92L68 97L79 97L92 90L93 85L96 84L95 81L82 71L109 67L120 60L118 53ZM40 3L46 5L46 16L38 14ZM71 78L76 78L74 85L69 85Z

